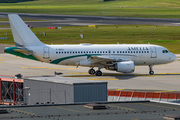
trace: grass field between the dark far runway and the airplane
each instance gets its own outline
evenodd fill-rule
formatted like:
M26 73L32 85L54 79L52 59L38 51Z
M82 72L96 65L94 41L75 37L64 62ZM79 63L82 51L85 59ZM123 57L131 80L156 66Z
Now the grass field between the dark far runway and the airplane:
M0 26L1 27L1 26ZM97 28L96 28L97 27ZM46 44L157 44L168 48L173 53L180 53L180 27L153 25L109 25L96 26L68 26L62 29L33 28L37 37ZM154 36L152 31L154 29ZM80 38L80 31L84 39ZM7 35L6 35L7 32ZM46 36L43 36L43 32ZM0 44L14 44L11 30L0 30Z

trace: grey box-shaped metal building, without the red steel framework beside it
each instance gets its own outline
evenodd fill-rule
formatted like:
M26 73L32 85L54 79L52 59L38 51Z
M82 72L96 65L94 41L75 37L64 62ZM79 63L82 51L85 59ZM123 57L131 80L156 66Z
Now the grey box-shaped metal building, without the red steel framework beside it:
M107 82L66 77L24 79L26 104L79 103L107 101Z

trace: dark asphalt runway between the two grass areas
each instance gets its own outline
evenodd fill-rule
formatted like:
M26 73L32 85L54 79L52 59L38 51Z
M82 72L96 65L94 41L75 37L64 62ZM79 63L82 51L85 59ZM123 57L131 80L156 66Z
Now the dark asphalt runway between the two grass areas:
M0 18L7 18L7 14L0 12ZM13 13L14 14L14 13ZM108 16L82 16L82 15L56 15L56 14L30 14L17 13L23 19L33 21L26 22L33 27L57 27L79 25L167 25L180 26L180 19L163 18L133 18L133 17L108 17ZM38 21L37 21L38 20ZM41 20L41 21L39 21ZM0 22L7 25L9 22Z

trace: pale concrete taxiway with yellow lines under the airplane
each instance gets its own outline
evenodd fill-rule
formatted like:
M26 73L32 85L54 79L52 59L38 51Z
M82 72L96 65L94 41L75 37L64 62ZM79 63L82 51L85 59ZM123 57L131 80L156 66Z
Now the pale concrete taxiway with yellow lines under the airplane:
M180 56L180 55L178 55ZM89 75L88 67L62 66L28 60L9 54L0 54L0 75L22 74L24 77L54 76L62 72L63 77L98 80L108 82L108 89L137 91L180 91L180 61L153 67L154 75L149 75L148 66L136 66L132 74L122 74L102 69L102 76ZM96 68L97 69L97 68Z

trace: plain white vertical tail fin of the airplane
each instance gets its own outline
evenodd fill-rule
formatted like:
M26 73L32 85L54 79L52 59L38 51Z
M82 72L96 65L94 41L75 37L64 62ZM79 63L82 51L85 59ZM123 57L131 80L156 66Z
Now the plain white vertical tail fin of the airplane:
M17 14L9 14L9 22L17 47L44 45Z

